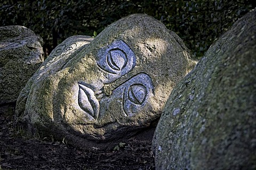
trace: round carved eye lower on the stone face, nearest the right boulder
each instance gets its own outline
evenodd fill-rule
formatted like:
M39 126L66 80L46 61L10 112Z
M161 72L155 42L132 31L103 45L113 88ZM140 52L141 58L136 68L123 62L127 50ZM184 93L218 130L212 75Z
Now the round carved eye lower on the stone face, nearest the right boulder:
M132 103L141 105L147 96L147 89L142 84L133 84L128 92L128 98Z

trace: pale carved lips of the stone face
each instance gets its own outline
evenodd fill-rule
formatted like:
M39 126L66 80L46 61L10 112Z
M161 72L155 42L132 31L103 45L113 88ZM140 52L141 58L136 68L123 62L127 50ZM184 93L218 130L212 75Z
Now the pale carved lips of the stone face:
M94 91L83 85L78 83L79 91L78 91L78 105L79 107L87 114L98 119L100 104L98 99L94 96Z

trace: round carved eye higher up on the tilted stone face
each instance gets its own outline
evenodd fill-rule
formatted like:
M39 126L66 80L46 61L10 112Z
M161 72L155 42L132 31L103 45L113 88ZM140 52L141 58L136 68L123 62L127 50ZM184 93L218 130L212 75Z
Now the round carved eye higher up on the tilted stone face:
M111 69L120 71L127 64L127 56L121 49L111 49L107 54L107 62Z

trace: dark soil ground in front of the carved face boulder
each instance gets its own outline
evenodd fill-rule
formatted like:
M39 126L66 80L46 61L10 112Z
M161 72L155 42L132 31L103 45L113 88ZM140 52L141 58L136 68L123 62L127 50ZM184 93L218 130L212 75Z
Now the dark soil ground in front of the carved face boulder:
M2 169L155 169L151 142L92 153L53 139L26 139L13 128L14 106L0 107Z

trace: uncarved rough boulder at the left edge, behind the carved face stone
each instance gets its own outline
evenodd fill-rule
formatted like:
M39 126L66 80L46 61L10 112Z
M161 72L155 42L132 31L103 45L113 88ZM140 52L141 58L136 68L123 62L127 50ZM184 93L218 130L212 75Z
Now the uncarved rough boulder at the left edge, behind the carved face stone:
M13 103L44 61L41 37L22 26L0 27L0 105Z

